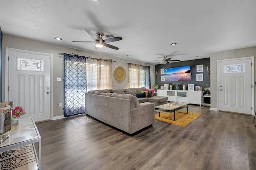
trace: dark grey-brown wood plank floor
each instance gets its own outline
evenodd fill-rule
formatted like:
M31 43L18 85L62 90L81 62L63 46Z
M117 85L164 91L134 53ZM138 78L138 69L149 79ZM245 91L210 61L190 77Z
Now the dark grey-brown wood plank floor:
M36 123L42 170L256 170L253 116L188 108L202 115L186 127L155 121L132 136L85 115Z

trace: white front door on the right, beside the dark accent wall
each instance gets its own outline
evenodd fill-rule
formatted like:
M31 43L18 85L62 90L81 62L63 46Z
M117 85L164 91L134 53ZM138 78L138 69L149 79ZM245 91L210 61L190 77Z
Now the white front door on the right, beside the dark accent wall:
M252 59L219 61L219 110L252 114Z

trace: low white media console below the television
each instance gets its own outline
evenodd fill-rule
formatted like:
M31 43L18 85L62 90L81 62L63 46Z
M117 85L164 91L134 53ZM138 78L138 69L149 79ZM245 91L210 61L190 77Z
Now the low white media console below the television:
M190 104L198 104L202 106L203 91L188 90L157 90L158 96L168 97L168 101L186 102Z

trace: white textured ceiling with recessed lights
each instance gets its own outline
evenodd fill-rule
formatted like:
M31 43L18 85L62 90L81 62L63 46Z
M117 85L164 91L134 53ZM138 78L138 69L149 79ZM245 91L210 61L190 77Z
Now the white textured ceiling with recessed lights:
M4 34L144 63L163 55L185 61L256 46L256 0L1 0L0 27ZM109 43L120 49L93 51L94 43L72 42L94 41L85 29L121 36Z

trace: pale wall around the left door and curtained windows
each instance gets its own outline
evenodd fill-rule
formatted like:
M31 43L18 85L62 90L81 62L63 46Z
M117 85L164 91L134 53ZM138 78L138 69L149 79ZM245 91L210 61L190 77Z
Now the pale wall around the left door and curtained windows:
M73 53L73 54L78 54L86 57L90 56L93 58L112 59L113 61L116 61L116 62L112 62L112 89L128 88L128 64L127 63L135 63L135 64L152 66L150 68L151 86L154 86L154 82L155 82L155 66L151 64L138 63L135 61L130 61L130 60L112 57L108 55L102 55L102 54L92 53L88 51L81 51L77 49L50 44L50 43L44 43L40 41L34 41L30 39L24 39L21 37L15 37L15 36L3 34L2 101L5 101L5 48L6 47L28 50L28 51L36 51L41 53L49 53L53 55L53 70L52 70L53 71L53 89L51 90L51 93L53 93L53 103L52 103L53 117L63 115L62 107L58 107L58 103L62 103L62 104L64 103L63 81L57 82L57 77L61 77L63 80L63 56L60 57L59 53L69 53L69 54ZM123 66L124 69L126 70L126 78L122 82L119 82L114 77L114 70L118 66Z

